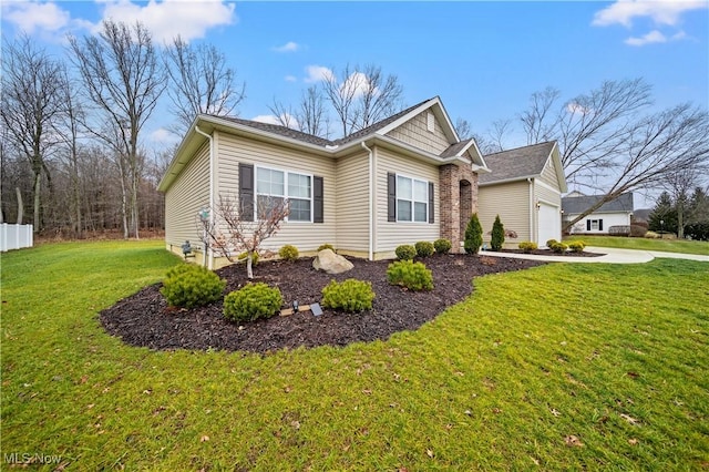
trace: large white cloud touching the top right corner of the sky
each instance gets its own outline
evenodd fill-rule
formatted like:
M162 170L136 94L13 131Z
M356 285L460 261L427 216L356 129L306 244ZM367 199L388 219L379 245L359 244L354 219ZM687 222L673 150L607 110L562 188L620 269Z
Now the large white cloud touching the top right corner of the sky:
M592 24L607 27L617 23L630 27L636 18L650 18L656 24L675 27L684 13L708 7L709 3L703 0L617 0L597 11Z

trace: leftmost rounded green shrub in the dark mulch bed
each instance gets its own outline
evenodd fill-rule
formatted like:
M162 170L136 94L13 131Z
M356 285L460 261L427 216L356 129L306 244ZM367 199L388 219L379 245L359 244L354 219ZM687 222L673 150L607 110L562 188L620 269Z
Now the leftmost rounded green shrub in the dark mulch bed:
M161 294L173 307L195 308L222 299L226 280L212 270L192 264L181 264L167 270Z

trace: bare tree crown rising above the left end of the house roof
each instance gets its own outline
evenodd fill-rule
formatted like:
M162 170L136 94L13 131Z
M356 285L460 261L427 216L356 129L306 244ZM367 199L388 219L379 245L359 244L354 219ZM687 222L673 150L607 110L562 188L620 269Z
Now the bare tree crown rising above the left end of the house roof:
M177 116L173 131L183 135L195 116L226 116L245 99L246 84L236 83L236 71L213 44L188 44L181 37L165 50L171 111Z

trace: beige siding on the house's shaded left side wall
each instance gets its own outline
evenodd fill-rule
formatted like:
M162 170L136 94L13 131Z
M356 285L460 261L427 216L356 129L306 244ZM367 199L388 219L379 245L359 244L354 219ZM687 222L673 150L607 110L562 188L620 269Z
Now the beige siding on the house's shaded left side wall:
M196 152L182 174L165 193L165 242L181 246L189 240L198 247L196 218L209 206L209 142Z

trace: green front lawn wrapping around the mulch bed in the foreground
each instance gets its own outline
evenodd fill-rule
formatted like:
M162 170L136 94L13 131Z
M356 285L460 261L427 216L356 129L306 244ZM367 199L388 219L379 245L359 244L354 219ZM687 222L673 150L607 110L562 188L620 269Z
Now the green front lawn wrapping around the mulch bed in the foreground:
M100 310L178 261L160 242L2 255L3 462L28 454L35 464L60 461L44 470L264 471L709 464L709 264L552 264L485 276L419 330L345 348L151 351L103 331Z

